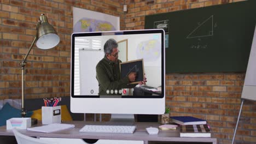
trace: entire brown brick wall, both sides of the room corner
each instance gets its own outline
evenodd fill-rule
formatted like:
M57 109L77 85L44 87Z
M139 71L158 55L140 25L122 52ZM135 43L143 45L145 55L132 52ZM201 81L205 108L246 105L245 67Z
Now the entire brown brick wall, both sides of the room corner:
M61 42L50 50L33 47L25 67L26 98L69 96L73 6L120 16L120 29L143 29L145 15L237 1L241 0L0 0L0 99L21 98L19 63L32 43L42 13ZM126 13L123 4L127 4ZM166 105L172 116L206 119L218 143L231 143L244 79L245 73L166 74ZM237 143L256 142L255 104L246 101L243 106Z

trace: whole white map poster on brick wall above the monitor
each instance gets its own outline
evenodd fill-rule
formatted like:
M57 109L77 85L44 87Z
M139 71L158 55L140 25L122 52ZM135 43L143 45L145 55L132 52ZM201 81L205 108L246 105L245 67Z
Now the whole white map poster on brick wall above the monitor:
M119 17L73 7L73 32L119 31Z

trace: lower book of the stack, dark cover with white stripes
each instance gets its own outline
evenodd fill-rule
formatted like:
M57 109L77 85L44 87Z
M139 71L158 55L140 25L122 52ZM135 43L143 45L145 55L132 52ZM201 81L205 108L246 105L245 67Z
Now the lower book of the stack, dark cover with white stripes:
M211 131L207 124L181 125L181 137L211 137Z

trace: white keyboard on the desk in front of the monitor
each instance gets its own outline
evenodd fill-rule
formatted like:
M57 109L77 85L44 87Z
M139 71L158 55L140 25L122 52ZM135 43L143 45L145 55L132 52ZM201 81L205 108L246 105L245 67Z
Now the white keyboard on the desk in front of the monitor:
M79 130L80 133L115 133L133 134L135 125L85 125Z

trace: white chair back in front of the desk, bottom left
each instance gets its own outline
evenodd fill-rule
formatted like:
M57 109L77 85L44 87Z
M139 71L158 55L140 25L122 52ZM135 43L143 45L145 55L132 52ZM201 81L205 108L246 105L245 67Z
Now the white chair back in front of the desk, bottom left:
M26 136L24 134L21 134L16 128L13 129L13 133L15 135L15 138L18 144L34 144L34 143L53 144L54 143L51 141L45 141L45 140L36 139L34 137Z

